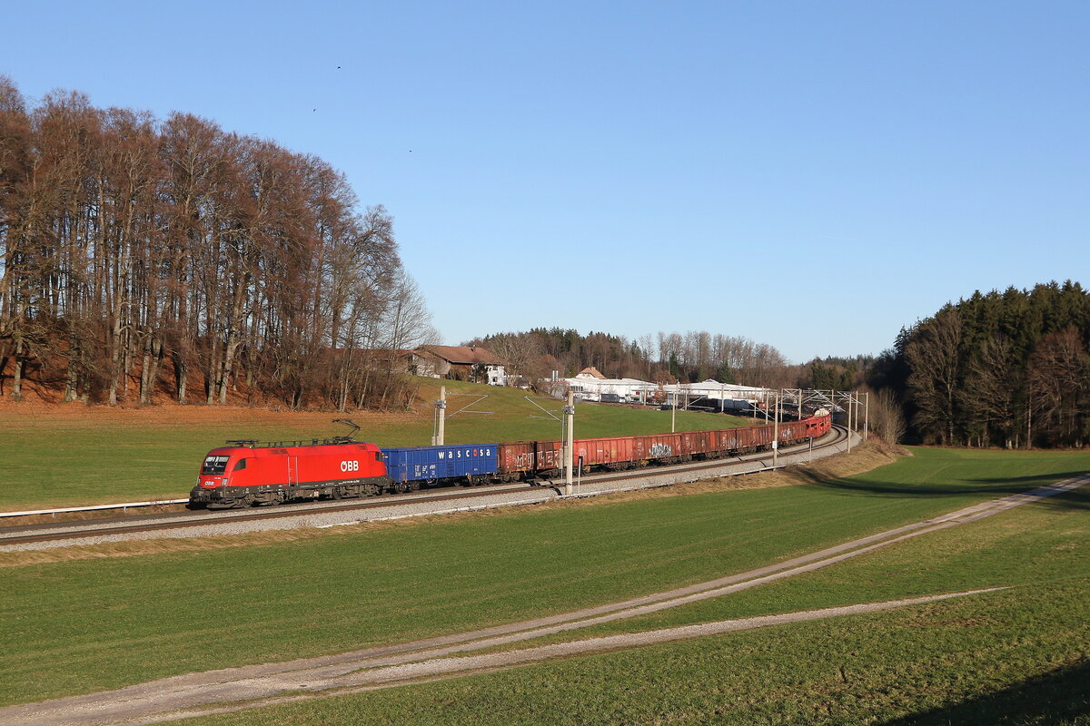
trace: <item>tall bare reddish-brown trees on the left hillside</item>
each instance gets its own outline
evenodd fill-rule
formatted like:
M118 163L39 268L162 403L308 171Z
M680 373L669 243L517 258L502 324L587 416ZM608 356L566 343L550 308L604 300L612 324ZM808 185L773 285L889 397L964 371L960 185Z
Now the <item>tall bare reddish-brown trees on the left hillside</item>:
M434 340L392 218L326 161L0 76L5 393L343 409L404 395L375 349Z

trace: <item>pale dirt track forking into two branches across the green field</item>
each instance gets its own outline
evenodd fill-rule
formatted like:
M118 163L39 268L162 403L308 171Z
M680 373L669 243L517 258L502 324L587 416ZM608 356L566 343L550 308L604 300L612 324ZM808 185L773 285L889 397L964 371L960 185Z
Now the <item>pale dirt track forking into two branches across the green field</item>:
M287 663L195 673L104 693L57 699L38 704L7 706L0 709L0 724L87 726L120 724L122 722L126 724L161 723L195 715L227 713L320 698L334 693L424 682L456 675L514 667L554 657L639 648L735 630L875 612L990 592L991 590L977 590L945 593L928 598L864 603L846 607L591 638L521 650L445 657L455 653L491 649L609 620L627 619L697 600L720 596L776 579L826 567L908 538L977 521L1021 504L1077 489L1087 483L1090 483L1090 477L1067 480L1025 494L993 500L941 517L898 527L880 534L846 542L749 573L625 602L411 643L371 648Z

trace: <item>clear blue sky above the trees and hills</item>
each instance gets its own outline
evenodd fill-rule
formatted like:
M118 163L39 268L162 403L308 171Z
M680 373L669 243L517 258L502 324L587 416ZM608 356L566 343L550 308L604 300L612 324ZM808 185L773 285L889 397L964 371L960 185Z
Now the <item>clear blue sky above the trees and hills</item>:
M447 343L537 325L879 353L1090 283L1090 3L8 3L33 103L182 110L344 171ZM340 66L340 67L338 67Z

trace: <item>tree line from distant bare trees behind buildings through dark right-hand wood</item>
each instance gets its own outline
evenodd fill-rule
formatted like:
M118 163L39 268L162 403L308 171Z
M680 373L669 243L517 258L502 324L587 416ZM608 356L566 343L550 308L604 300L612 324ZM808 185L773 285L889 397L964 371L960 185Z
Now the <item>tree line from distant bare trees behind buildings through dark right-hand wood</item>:
M1082 446L1090 440L1090 293L1077 282L976 292L903 329L880 356L791 365L773 346L704 331L643 335L570 329L473 341L526 378L607 378L870 391L873 430L953 446Z

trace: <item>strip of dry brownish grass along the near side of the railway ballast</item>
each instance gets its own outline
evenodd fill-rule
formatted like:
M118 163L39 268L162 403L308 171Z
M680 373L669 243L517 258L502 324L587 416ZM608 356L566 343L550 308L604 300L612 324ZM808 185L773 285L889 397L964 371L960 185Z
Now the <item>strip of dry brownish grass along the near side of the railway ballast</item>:
M218 409L217 409L218 410ZM536 505L538 509L558 509L583 506L602 506L617 502L661 499L666 496L686 496L739 489L764 489L768 487L790 487L794 484L812 483L863 473L871 469L891 464L907 453L899 446L891 446L879 439L872 439L861 444L850 454L819 459L809 466L788 467L779 471L746 475L737 477L719 477L694 481L687 484L645 489L633 492L604 494L585 500L562 500ZM227 550L231 547L262 546L281 542L296 542L319 537L343 537L359 532L371 532L400 527L423 527L437 521L452 519L481 519L486 517L504 517L512 514L509 508L484 509L481 512L464 512L459 514L433 515L397 519L391 521L361 522L338 527L336 529L293 529L265 532L247 532L245 534L229 534L220 537L202 537L185 539L153 539L126 540L105 544L75 545L52 550L32 550L22 552L0 552L0 568L39 565L73 559L101 559L107 557L134 557L140 555L173 554L181 552L207 552L209 550Z

